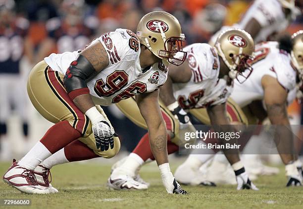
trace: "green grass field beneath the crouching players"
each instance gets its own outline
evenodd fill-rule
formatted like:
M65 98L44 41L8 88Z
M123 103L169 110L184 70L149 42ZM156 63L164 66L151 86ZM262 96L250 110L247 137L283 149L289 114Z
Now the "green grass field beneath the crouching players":
M177 165L173 164L172 170L175 170ZM0 163L0 174L2 175L8 167L9 163ZM109 173L110 165L95 161L59 165L51 170L51 184L59 193L27 195L1 182L0 198L29 198L32 200L30 208L37 209L303 209L303 188L286 188L282 170L277 176L263 176L256 180L254 183L260 189L258 192L236 191L234 185L218 185L211 188L184 186L189 192L186 196L166 194L155 164L147 165L141 171L141 176L151 182L151 187L147 191L108 190L106 180Z

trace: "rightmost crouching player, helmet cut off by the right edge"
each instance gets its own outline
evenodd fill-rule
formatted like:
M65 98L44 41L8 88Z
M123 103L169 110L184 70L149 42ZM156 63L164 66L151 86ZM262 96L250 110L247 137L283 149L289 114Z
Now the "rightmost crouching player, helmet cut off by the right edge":
M287 104L295 99L296 79L301 82L303 80L303 31L295 33L292 41L284 37L279 42L263 42L256 45L253 72L245 83L235 81L231 98L243 109L245 115L242 117L247 117L249 124L258 124L268 117L271 124L276 125L275 138L280 139L277 149L285 164L287 186L300 186L302 162L295 153ZM266 110L263 109L262 100ZM201 160L202 158L204 160ZM209 158L206 155L201 157L190 155L177 168L175 172L177 180L191 182L192 180L187 177L188 173L198 171ZM199 173L196 172L193 176L195 175Z

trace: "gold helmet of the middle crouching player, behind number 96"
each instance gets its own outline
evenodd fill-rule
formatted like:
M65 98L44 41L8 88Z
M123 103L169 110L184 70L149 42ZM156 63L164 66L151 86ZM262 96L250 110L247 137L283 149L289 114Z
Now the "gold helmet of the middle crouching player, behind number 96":
M254 42L248 32L239 28L228 28L219 34L215 48L229 68L230 78L237 78L242 83L250 76L253 71L250 62L253 60ZM244 74L246 70L249 72Z

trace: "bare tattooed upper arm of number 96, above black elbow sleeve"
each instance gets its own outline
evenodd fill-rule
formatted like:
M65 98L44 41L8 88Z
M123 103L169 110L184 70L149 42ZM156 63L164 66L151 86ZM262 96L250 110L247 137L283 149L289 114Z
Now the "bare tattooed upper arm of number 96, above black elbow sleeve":
M99 42L87 47L80 54L90 61L97 72L103 70L109 64L107 52Z

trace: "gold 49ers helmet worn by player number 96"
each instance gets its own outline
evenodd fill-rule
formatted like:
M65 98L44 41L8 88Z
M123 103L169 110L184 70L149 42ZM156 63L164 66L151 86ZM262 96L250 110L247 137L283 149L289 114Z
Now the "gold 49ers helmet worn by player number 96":
M187 53L182 51L185 35L176 17L165 11L153 11L144 15L137 28L140 44L145 45L165 65L179 66Z

